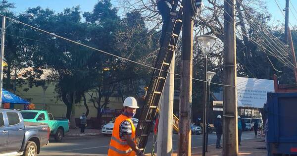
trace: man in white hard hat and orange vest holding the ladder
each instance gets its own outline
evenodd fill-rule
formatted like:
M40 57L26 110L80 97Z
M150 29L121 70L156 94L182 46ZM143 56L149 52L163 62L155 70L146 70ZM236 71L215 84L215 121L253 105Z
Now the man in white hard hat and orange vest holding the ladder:
M139 108L137 101L128 97L123 106L123 113L114 122L107 156L145 156L136 145L135 126L131 120Z

